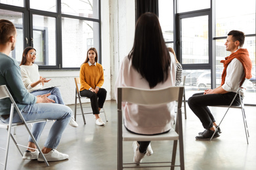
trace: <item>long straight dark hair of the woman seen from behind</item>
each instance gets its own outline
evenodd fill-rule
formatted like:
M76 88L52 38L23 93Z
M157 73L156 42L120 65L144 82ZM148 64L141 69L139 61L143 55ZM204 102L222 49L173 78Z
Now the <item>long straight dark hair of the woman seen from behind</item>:
M171 58L156 14L146 12L138 19L128 58L132 59L132 65L140 75L146 78L150 88L167 80Z

